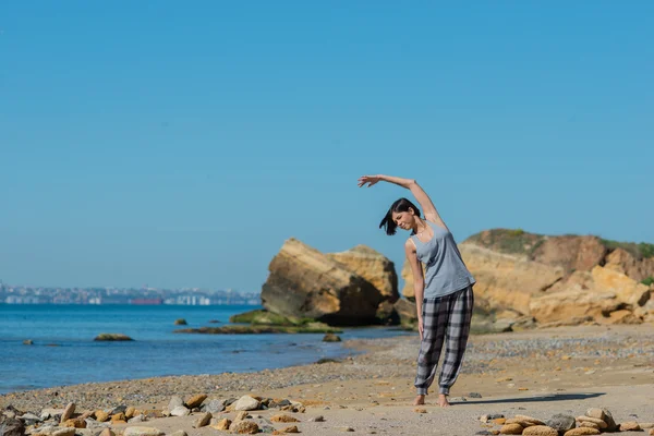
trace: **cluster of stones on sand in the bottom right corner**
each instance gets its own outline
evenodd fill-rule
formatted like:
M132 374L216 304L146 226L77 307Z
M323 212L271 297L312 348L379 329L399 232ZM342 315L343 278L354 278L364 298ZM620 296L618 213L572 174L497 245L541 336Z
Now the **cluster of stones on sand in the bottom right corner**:
M581 416L558 413L546 421L526 415L506 419L502 414L482 415L480 421L483 425L500 426L500 428L481 431L477 435L584 436L646 429L650 435L654 435L654 423L623 422L617 424L610 411L605 408L591 408Z

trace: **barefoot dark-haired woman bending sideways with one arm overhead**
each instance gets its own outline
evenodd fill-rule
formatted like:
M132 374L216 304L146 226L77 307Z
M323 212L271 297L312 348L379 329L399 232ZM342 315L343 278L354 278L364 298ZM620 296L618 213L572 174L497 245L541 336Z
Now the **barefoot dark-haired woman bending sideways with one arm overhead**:
M385 181L407 187L417 199L424 218L413 203L407 198L395 202L379 223L387 234L395 234L399 227L410 230L404 243L407 258L413 271L413 288L421 338L417 358L415 405L425 403L427 389L434 382L443 343L445 359L438 377L438 405L448 407L450 387L457 380L470 334L470 320L474 294L474 277L470 274L457 243L438 215L429 196L415 180L390 175L363 175L359 187L368 187ZM421 263L425 265L425 272Z

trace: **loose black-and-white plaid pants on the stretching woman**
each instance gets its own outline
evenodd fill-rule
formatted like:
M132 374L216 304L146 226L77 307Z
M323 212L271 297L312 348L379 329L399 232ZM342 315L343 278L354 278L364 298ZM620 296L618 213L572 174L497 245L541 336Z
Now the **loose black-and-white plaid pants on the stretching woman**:
M414 383L419 395L427 395L434 382L444 341L445 359L438 377L438 392L449 395L463 362L473 305L472 286L449 295L423 300L423 339Z

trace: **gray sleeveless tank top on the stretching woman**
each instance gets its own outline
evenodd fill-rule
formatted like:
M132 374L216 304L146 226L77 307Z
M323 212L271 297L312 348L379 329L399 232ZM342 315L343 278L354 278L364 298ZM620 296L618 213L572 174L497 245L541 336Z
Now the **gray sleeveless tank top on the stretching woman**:
M422 242L412 235L415 243L417 259L425 264L425 299L434 299L457 292L475 283L470 274L452 233L428 222L434 230L434 237L428 242Z

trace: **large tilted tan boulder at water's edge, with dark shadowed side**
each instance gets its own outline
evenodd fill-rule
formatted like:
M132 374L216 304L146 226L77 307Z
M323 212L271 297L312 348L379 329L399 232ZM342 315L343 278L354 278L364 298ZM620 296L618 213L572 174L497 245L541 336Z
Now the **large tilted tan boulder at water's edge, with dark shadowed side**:
M374 324L384 295L368 280L291 238L268 266L262 304L288 317L331 325Z

